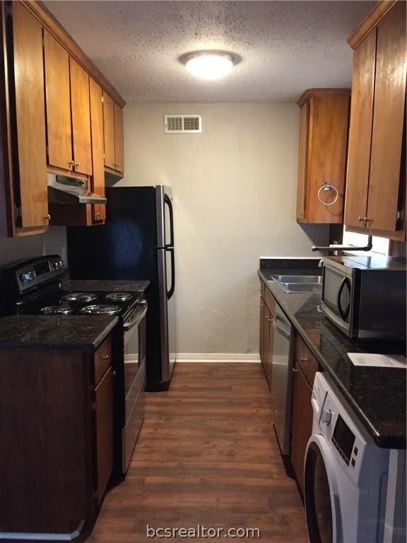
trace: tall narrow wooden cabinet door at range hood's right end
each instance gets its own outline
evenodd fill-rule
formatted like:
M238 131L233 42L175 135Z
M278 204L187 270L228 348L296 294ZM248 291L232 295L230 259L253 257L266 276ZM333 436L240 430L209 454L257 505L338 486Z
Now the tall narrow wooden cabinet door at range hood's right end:
M90 132L92 134L92 189L96 194L105 196L105 161L103 159L103 104L102 88L89 80L90 86ZM105 205L92 206L93 221L106 218Z

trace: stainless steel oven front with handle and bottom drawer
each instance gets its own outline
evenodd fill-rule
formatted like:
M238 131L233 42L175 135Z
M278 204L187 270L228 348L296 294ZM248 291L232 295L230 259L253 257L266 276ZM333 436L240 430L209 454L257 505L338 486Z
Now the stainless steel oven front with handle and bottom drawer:
M123 324L124 332L124 428L122 428L122 472L129 467L131 455L144 418L146 388L146 315L143 301Z

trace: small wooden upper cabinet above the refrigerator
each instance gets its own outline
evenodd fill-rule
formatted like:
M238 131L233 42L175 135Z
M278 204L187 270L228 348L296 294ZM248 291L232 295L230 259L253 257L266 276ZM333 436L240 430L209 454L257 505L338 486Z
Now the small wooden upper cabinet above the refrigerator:
M124 173L123 111L110 95L103 93L105 167L110 173Z

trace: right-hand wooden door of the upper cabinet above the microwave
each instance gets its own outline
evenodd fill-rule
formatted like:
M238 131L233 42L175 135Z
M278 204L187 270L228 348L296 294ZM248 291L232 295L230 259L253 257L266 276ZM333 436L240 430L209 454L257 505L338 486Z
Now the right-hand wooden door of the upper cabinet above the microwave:
M397 229L406 100L406 2L397 2L377 27L372 158L367 227Z

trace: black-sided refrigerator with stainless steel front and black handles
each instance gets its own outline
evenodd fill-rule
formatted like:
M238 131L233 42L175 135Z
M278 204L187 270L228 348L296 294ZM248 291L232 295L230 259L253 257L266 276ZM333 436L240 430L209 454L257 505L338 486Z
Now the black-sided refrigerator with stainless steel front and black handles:
M170 386L175 364L172 189L108 187L106 223L67 228L71 279L148 280L147 388Z

